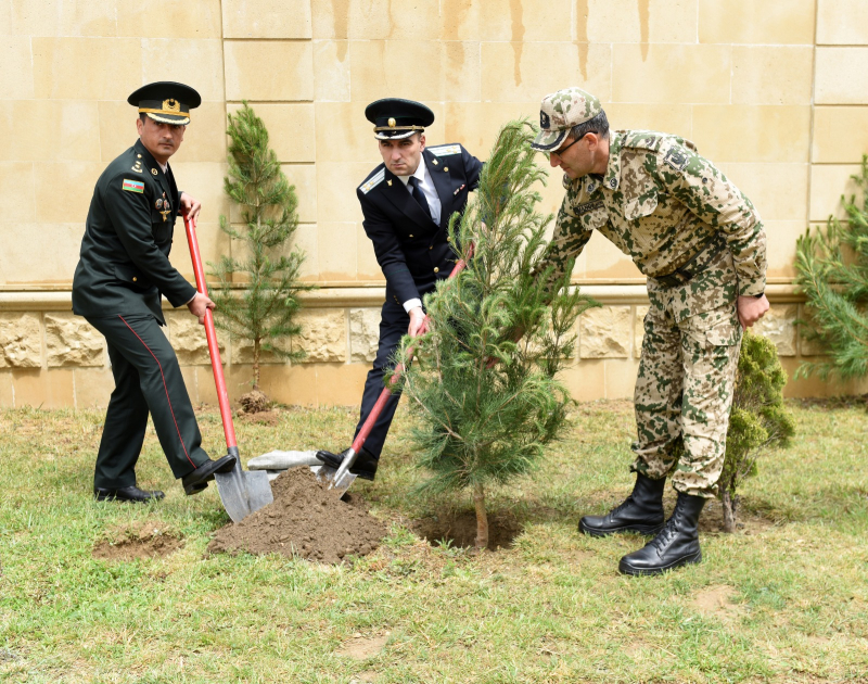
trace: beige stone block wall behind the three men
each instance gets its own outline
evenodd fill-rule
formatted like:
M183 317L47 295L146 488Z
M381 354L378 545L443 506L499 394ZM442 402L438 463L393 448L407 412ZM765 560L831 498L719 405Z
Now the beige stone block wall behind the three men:
M68 314L68 290L93 183L135 140L126 97L157 79L203 96L173 166L203 202L206 259L233 250L217 226L221 214L238 219L222 194L224 130L242 100L296 186L304 274L321 289L297 342L306 363L264 373L276 398L358 402L383 296L354 192L379 162L362 112L393 94L434 110L429 142L461 141L483 159L499 123L536 118L540 97L570 85L597 93L616 128L692 139L765 219L775 311L763 329L794 368L814 351L793 324L795 238L839 211L868 152L866 27L864 0L4 0L0 403L107 401L102 340ZM560 199L552 178L544 208ZM171 258L192 278L182 231ZM579 324L571 388L629 396L641 277L600 236L574 276L607 308ZM173 314L167 332L191 394L212 402L204 341L186 316ZM225 344L234 392L250 351ZM790 392L847 389L812 381Z

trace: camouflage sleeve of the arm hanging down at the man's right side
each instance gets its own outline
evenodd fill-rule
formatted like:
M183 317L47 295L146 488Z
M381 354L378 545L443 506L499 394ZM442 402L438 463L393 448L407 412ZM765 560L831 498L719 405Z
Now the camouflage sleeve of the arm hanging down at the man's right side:
M725 236L739 275L739 294L761 294L766 286L766 233L753 203L709 160L678 142L656 160L658 176L673 197Z

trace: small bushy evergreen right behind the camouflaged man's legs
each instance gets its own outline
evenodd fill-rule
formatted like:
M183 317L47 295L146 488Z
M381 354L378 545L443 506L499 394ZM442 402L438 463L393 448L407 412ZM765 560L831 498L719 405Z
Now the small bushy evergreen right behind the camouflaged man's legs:
M737 490L756 474L760 455L786 446L795 432L792 414L783 405L787 372L775 344L758 334L744 333L736 375L736 393L726 435L726 456L717 495L724 507L724 532L736 529Z

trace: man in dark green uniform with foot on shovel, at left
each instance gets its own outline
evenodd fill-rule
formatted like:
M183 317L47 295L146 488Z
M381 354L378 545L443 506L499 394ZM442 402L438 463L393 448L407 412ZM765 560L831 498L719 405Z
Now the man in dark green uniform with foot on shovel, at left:
M73 279L73 311L105 335L115 390L105 414L93 478L98 501L145 502L163 492L136 486L136 461L150 413L159 444L187 494L201 492L234 456L212 460L187 394L165 326L161 295L186 304L200 322L214 302L168 259L175 219L195 218L200 203L178 190L168 161L183 140L199 93L176 83L139 88L139 140L102 173L90 202Z

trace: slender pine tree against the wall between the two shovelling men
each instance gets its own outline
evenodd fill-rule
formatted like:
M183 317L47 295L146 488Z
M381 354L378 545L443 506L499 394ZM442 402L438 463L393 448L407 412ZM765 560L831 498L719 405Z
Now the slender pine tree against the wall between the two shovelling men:
M301 307L297 293L312 289L298 282L304 254L291 251L289 242L298 225L295 187L280 169L273 150L268 147L268 130L250 105L229 115L229 174L224 189L241 207L244 227L234 228L220 216L220 230L241 242L248 256L220 257L212 264L219 283L213 299L217 304L215 322L233 338L253 343L253 389L259 389L259 363L263 351L298 360L301 351L288 351L285 341L301 332L295 315ZM239 294L235 276L241 276ZM284 342L284 344L281 344Z

